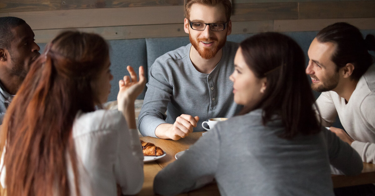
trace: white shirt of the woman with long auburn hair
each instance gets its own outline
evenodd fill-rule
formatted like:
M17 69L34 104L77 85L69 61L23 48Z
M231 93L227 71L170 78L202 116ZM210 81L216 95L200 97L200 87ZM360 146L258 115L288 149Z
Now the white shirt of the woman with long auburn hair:
M81 195L115 196L116 184L121 186L123 195L134 195L141 190L144 179L143 153L138 131L127 128L121 112L78 112L73 124L73 139ZM68 154L66 157L69 160ZM3 187L6 187L5 175L4 167L1 172ZM68 164L68 177L71 195L75 196L71 164Z

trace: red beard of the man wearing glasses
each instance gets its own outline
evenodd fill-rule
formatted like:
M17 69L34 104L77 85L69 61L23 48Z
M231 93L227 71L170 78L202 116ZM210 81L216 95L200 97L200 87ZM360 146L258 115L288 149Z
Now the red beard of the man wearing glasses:
M213 49L210 49L208 47L199 48L199 41L218 41L216 38L208 38L208 39L197 39L193 40L193 38L189 34L189 40L192 46L195 48L196 51L198 51L199 55L204 59L212 59L217 52L219 52L220 49L225 45L226 42L226 36L223 40L217 43L217 46Z

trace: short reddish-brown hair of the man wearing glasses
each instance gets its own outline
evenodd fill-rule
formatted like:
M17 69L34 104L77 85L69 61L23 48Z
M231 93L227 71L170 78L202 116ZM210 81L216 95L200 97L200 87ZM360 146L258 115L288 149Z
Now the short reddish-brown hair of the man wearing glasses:
M190 20L190 8L192 4L199 3L207 6L222 4L225 9L226 22L229 22L232 14L232 4L229 0L187 0L185 4L185 17Z

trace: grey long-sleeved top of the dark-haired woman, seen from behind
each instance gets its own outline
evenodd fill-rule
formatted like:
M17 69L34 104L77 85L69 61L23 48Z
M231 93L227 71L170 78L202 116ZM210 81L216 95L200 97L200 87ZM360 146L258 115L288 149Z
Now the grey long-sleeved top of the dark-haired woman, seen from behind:
M154 179L154 192L176 195L216 179L223 196L333 196L330 163L346 175L363 163L349 144L319 134L278 137L281 120L264 127L261 110L219 122Z

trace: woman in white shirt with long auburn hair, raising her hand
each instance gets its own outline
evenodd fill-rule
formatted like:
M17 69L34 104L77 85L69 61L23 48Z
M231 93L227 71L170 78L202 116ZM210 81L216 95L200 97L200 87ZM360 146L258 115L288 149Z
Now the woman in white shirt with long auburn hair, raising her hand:
M111 89L108 44L66 31L30 68L1 127L1 182L8 196L117 195L139 192L143 155L134 100L145 84L128 66L118 111L95 109Z

